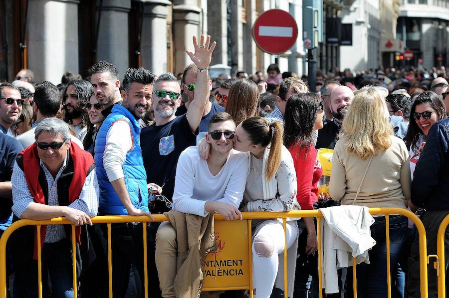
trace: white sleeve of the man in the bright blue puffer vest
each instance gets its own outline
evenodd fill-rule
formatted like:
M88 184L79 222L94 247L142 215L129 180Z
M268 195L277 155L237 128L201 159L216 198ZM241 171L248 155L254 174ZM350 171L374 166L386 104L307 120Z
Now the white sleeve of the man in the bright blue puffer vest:
M114 122L106 135L103 152L103 166L110 182L125 177L122 165L132 146L129 124L125 120Z

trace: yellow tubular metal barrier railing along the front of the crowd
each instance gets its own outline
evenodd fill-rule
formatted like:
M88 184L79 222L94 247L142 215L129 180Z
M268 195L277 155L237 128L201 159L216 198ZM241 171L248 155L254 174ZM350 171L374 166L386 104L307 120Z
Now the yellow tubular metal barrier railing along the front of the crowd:
M427 298L428 297L428 288L427 288L427 247L426 247L426 233L424 230L423 223L421 220L412 212L402 209L402 208L370 208L370 213L372 215L385 215L386 216L386 232L387 232L387 239L389 240L389 215L393 214L399 214L404 215L408 218L410 218L415 225L417 226L418 233L419 233L419 242L420 242L420 276L421 276L421 297ZM275 219L275 218L282 218L283 228L284 228L284 235L286 233L286 218L296 218L296 217L316 217L317 218L317 237L318 237L318 270L320 272L319 276L319 296L322 298L322 277L321 277L321 267L322 267L322 243L321 243L321 231L320 231L320 224L322 220L322 214L319 210L301 210L301 211L290 211L290 212L244 212L242 213L243 219L247 220L247 230L248 230L248 269L249 269L249 281L247 285L244 285L242 287L209 287L204 288L204 291L223 291L223 290L234 290L234 289L247 289L252 290L252 250L251 250L251 242L252 242L252 236L251 236L251 220L252 219ZM168 218L164 215L154 215L155 221L168 221ZM215 220L224 220L223 216L221 215L215 215ZM107 232L108 232L108 274L109 274L109 297L112 298L112 251L111 251L111 224L112 223L125 223L125 222L142 222L143 224L146 224L148 222L151 222L151 220L146 216L96 216L92 218L92 223L94 224L107 224ZM449 216L445 219L444 223L448 225L449 223ZM58 225L58 224L70 224L72 226L72 244L73 249L75 246L75 226L72 224L72 222L68 221L65 218L54 218L50 220L19 220L17 222L14 222L11 224L11 226L6 229L6 231L3 232L3 235L0 239L0 298L6 298L6 242L11 235L13 231L16 229L23 227L23 226L30 226L30 225L36 225L37 226L37 241L38 241L38 291L39 291L39 298L42 297L42 276L41 276L41 249L40 249L40 227L41 225ZM443 223L442 223L443 225ZM146 229L143 229L143 245L144 245L144 268L147 269L147 238L145 237ZM235 231L234 231L235 232ZM440 235L440 233L439 233ZM443 242L444 245L444 242ZM387 241L387 254L389 254L389 241ZM439 245L440 249L440 245ZM443 249L444 251L444 249ZM73 254L75 255L75 254ZM440 254L439 254L440 255ZM284 287L287 289L287 249L286 244L284 246ZM75 256L74 256L75 258ZM389 296L391 297L391 274L390 274L390 261L389 258L387 258L387 278L388 278L388 290L389 290ZM441 264L444 264L444 254L443 259L440 255ZM353 259L353 264L355 265L355 259ZM444 270L441 270L441 272L444 272ZM354 297L357 297L357 279L356 279L356 267L353 266L353 273L354 273L354 282L353 282L353 289L354 289ZM444 275L444 274L443 274ZM440 274L442 276L442 274ZM148 276L147 276L147 270L145 270L145 297L148 297ZM77 281L76 281L76 262L75 259L73 259L73 288L74 288L74 295L76 297L76 289L77 289ZM444 287L444 285L443 285ZM249 295L252 298L253 297L253 291L249 291ZM285 291L285 298L287 298L288 291Z

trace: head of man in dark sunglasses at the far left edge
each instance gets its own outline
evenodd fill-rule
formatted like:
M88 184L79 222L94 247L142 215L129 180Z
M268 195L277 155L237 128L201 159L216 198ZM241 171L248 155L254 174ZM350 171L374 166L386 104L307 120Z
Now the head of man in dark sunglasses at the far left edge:
M0 132L13 137L11 125L17 121L22 112L23 99L17 87L0 84Z

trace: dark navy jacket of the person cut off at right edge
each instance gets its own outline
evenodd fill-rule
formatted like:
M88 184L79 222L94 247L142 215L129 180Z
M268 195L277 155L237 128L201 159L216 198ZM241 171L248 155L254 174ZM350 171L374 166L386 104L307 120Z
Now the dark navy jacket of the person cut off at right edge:
M449 210L449 119L429 131L413 173L412 202L426 210Z

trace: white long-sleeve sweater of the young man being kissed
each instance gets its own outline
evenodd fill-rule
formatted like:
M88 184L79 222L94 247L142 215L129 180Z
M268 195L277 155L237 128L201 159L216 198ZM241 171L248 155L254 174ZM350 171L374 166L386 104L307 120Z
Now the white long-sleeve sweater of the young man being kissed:
M245 190L249 159L244 152L231 150L225 165L212 175L197 147L185 149L176 168L173 209L206 216L206 201L219 201L238 208Z

